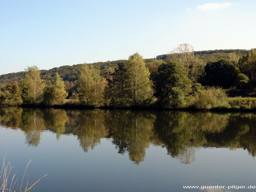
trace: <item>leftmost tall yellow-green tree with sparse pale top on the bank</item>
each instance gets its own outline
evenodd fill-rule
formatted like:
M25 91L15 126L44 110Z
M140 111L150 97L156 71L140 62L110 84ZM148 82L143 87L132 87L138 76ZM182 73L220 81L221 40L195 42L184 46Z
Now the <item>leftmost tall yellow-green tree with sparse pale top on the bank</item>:
M20 82L22 99L26 104L37 104L42 99L45 83L40 77L39 68L36 66L26 69L26 77Z

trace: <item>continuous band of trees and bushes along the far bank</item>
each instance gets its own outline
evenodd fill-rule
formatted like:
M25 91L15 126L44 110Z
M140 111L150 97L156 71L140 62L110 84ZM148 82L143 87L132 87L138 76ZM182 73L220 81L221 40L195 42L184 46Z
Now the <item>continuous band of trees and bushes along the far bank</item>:
M189 44L150 61L136 52L115 68L84 64L74 81L36 66L0 90L0 106L24 108L256 111L256 49L223 60L200 59Z

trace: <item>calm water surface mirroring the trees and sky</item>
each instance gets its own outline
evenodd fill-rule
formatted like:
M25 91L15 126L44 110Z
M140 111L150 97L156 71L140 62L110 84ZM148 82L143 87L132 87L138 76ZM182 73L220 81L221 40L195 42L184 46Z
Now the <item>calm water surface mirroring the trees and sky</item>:
M22 186L48 174L35 192L256 186L253 113L1 108L0 122L15 189L31 159Z

